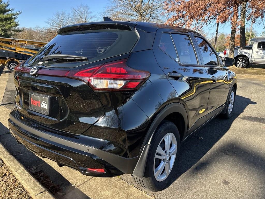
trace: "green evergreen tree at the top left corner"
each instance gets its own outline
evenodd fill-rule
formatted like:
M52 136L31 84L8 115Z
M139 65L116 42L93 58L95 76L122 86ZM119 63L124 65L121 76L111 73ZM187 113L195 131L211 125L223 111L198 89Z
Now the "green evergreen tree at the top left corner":
M0 37L11 37L16 32L21 32L19 22L16 21L21 11L14 12L15 8L8 8L9 1L0 0Z

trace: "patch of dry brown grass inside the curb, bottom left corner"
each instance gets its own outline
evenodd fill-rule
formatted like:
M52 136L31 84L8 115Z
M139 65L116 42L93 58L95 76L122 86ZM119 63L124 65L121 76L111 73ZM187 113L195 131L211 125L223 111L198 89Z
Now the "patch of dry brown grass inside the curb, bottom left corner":
M15 178L10 169L0 159L0 198L1 199L31 199L30 194Z

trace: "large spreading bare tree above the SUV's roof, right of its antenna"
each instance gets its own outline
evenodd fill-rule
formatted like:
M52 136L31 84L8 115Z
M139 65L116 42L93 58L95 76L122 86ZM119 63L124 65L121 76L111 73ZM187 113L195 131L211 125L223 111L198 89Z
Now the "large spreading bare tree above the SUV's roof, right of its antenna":
M162 23L164 0L112 0L105 12L113 20Z

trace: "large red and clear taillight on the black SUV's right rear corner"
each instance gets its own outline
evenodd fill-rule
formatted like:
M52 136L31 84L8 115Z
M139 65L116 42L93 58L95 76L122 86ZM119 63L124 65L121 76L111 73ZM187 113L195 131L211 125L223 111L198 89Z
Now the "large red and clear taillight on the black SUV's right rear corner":
M69 71L66 76L85 80L94 90L136 90L150 76L148 71L127 66L127 59L105 63L82 71Z

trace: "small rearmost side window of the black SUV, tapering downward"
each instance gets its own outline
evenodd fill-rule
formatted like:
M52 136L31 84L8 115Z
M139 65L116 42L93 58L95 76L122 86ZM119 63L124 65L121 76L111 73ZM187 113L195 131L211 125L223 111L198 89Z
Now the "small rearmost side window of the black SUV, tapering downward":
M174 60L176 61L178 60L177 59L178 56L177 56L174 44L173 44L173 41L169 33L162 34L159 48L163 50L164 52L166 52L167 54L169 54Z

